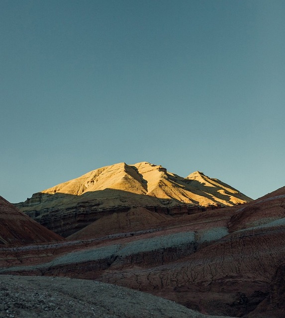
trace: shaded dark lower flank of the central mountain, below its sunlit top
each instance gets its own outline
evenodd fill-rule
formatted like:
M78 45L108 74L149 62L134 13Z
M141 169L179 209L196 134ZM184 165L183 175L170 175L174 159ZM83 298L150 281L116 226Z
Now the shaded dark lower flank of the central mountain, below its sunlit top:
M116 189L86 192L79 196L38 192L25 202L14 205L63 237L74 234L102 216L127 212L133 207L144 207L150 212L170 216L188 215L205 210L197 201L186 204L177 199L156 198Z

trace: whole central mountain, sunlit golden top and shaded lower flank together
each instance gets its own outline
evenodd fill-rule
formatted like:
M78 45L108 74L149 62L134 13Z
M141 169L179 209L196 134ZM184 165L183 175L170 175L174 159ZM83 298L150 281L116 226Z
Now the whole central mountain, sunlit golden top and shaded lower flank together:
M251 199L196 171L183 178L161 165L117 163L60 183L15 204L48 229L70 236L112 213L133 207L167 215L187 215Z

